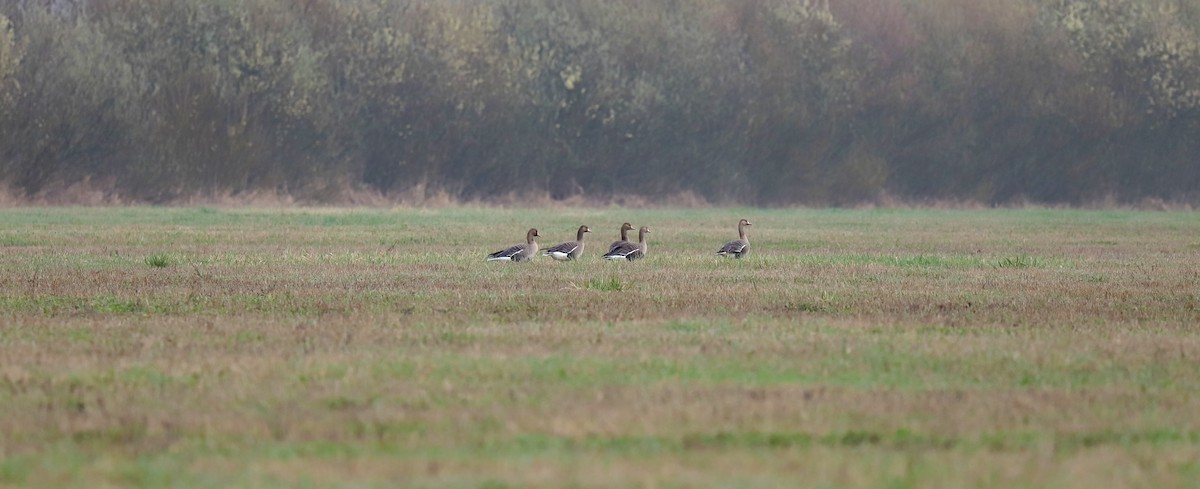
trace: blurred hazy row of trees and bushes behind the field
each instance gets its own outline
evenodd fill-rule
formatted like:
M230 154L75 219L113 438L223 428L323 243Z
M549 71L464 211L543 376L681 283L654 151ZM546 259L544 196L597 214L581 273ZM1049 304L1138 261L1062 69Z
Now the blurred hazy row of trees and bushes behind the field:
M1198 109L1200 0L0 2L49 200L1196 203Z

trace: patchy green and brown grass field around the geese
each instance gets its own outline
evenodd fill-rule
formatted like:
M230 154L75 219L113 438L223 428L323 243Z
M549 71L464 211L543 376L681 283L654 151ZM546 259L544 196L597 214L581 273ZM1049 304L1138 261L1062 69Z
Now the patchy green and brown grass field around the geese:
M0 487L1200 484L1196 213L5 209L0 252Z

